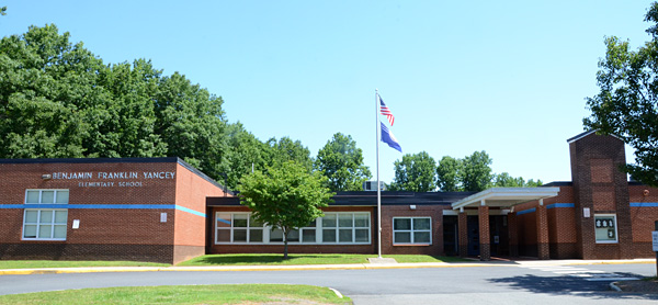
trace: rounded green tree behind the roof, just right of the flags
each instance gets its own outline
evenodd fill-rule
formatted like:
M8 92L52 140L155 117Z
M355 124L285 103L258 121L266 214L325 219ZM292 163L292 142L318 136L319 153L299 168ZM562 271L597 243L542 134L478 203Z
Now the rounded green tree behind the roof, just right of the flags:
M436 190L436 162L426 151L407 154L402 161L395 161L395 179L392 191L432 192Z

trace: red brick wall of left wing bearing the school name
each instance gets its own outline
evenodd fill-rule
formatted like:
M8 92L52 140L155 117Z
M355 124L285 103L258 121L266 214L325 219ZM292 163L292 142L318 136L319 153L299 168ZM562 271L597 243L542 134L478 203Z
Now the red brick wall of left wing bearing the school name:
M82 161L82 162L80 162ZM112 160L111 160L112 161ZM91 179L57 179L58 172L91 172ZM136 178L105 179L101 172L136 172ZM145 172L174 172L160 178L146 178ZM22 240L23 208L0 210L0 258L31 258L48 256L57 259L98 258L173 261L174 252L183 256L190 249L175 251L174 227L183 229L182 240L192 240L194 251L203 253L205 219L173 208L73 208L78 204L179 204L198 212L205 211L205 196L209 182L180 167L175 159L162 162L104 162L103 159L83 159L75 162L0 163L0 204L23 204L26 189L67 189L69 208L65 241ZM44 180L42 174L54 179ZM182 176L182 177L181 177ZM181 189L177 193L177 181ZM200 181L201 180L201 181ZM112 187L88 187L84 183L104 182ZM139 187L121 187L131 182ZM195 185L196 190L186 190ZM215 188L218 189L218 188ZM212 195L222 194L211 192ZM189 200L188 200L189 199ZM167 213L166 223L160 213ZM188 214L188 215L185 215ZM177 216L182 224L177 225ZM197 221L197 219L198 221ZM80 228L72 229L73 219ZM193 221L190 221L193 219ZM186 225L193 224L193 228ZM195 230L195 231L193 231ZM200 237L198 237L200 236ZM192 244L190 242L190 244ZM55 247L55 248L54 248ZM95 249L95 250L94 250Z

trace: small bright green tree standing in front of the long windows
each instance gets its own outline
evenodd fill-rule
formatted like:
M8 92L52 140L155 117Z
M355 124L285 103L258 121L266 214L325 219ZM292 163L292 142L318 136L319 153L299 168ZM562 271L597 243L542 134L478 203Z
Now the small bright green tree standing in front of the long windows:
M320 208L331 202L333 193L325 187L326 180L294 161L269 167L265 172L254 171L242 179L238 188L240 203L252 211L257 222L283 231L284 259L288 233L324 216Z

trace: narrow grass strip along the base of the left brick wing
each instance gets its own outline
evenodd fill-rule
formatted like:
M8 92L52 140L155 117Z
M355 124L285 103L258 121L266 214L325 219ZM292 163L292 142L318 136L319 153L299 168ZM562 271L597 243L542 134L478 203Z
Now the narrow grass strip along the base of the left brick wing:
M140 261L67 261L67 260L0 260L0 269L73 268L73 267L169 267L169 263Z

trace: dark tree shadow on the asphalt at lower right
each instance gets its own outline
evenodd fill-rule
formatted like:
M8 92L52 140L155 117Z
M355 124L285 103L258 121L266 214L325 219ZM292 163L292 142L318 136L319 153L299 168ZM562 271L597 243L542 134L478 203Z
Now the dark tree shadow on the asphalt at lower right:
M616 272L620 278L643 278L633 273ZM619 293L610 289L612 281L587 281L576 276L536 276L532 274L489 279L491 283L506 284L532 293L576 295L593 300L658 300L657 294Z

